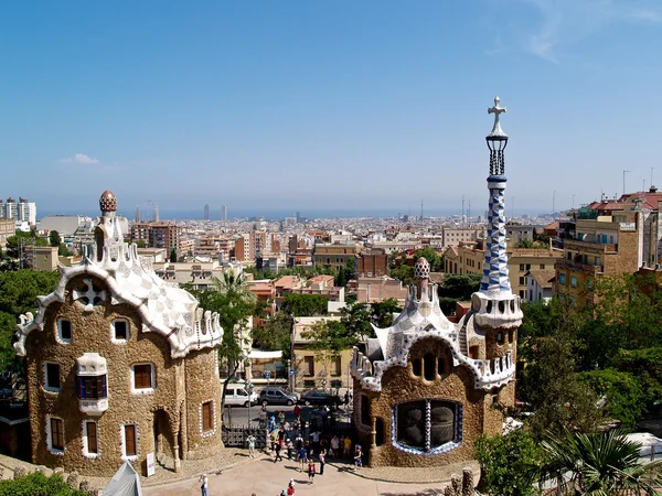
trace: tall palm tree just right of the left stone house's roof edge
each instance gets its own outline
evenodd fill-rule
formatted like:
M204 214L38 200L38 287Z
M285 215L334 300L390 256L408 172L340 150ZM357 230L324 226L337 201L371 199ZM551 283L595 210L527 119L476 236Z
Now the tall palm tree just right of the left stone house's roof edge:
M239 366L246 360L245 349L249 344L249 320L255 314L256 298L248 290L242 276L223 272L223 278L214 278L206 291L193 291L200 306L218 312L223 327L223 341L218 347L218 358L225 364L227 377L223 381L221 409L225 405L227 385L235 377Z

